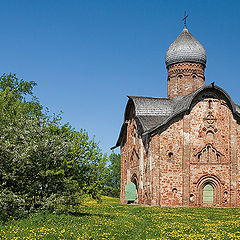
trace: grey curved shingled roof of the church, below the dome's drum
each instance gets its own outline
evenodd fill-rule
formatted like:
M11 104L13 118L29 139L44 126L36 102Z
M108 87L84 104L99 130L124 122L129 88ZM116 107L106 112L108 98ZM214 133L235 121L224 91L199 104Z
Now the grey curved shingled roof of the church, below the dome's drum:
M128 106L133 103L135 119L141 124L141 134L145 139L148 139L148 137L155 131L168 124L177 116L188 113L191 110L194 99L200 93L209 90L222 94L228 102L229 108L231 109L234 117L240 119L240 108L233 103L226 91L214 84L199 88L197 91L189 95L176 98L129 96L126 110ZM121 139L124 135L123 131L126 129L127 114L127 111L125 111L124 124L122 126L118 141L113 148L121 145Z

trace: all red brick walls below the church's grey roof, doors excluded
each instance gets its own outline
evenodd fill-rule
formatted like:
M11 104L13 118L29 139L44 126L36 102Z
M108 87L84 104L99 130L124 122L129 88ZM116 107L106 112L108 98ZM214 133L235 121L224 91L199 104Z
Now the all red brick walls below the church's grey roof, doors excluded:
M214 206L240 206L240 125L223 98L207 95L198 97L190 114L152 136L148 154L133 116L128 120L121 147L122 203L125 185L136 175L136 203L201 206L203 186L211 183Z

